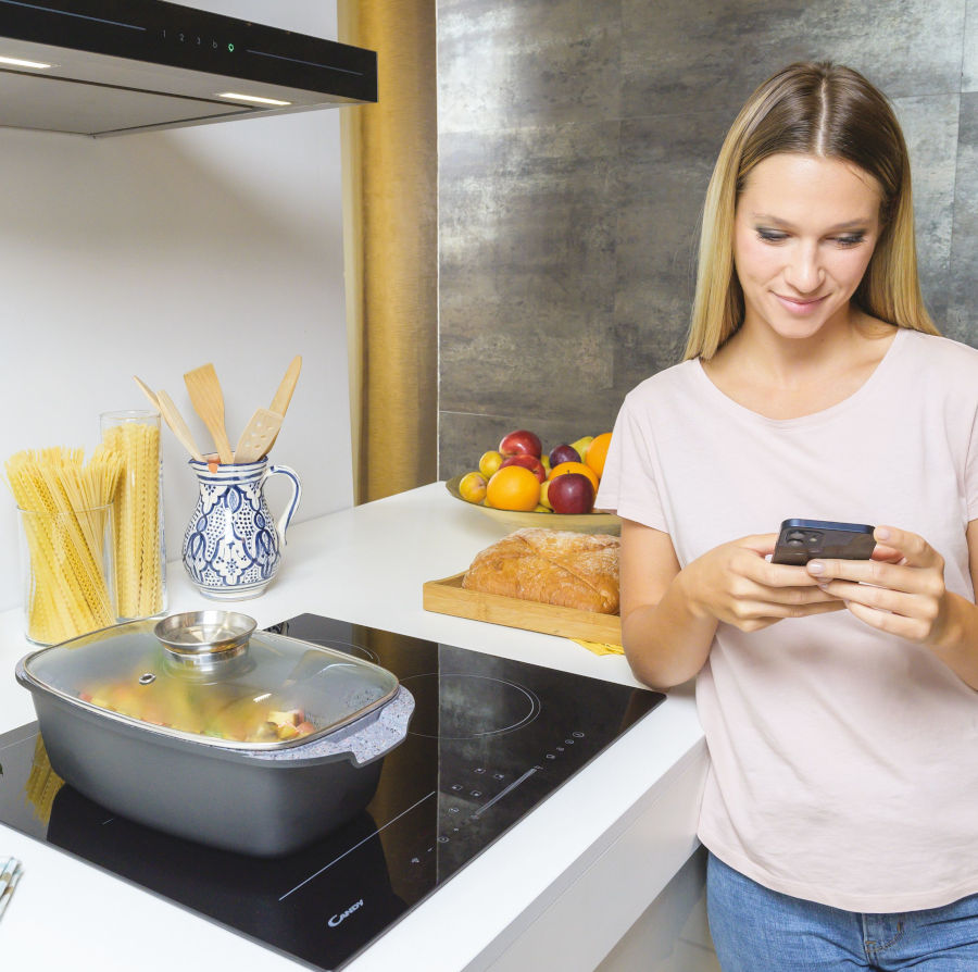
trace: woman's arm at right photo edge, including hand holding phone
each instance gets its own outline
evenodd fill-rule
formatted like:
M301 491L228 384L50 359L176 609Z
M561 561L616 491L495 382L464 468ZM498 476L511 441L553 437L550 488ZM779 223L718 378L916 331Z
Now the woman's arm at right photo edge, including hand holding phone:
M926 645L978 689L978 607L944 587L944 560L923 537L878 526L873 560L813 560L808 572L861 621ZM978 590L978 520L967 526L971 584ZM863 582L863 583L860 583Z

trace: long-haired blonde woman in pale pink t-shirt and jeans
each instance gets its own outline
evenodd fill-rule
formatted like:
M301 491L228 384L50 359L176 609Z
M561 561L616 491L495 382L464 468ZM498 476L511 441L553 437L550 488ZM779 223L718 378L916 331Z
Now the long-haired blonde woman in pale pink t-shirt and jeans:
M625 650L697 676L725 972L978 969L978 352L913 234L883 96L779 72L710 183L686 360L615 424ZM885 525L872 560L772 563L791 518Z

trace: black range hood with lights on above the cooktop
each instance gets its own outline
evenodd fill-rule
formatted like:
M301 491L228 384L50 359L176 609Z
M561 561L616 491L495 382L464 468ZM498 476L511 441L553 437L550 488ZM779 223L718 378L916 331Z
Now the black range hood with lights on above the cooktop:
M163 0L0 0L0 126L100 137L376 100L374 51Z

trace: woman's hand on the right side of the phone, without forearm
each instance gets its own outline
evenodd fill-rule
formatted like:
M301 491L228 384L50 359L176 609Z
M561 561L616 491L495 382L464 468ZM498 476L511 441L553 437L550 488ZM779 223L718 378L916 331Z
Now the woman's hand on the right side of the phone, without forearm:
M818 558L819 587L866 624L911 641L936 643L946 614L944 559L917 534L877 526L872 560Z

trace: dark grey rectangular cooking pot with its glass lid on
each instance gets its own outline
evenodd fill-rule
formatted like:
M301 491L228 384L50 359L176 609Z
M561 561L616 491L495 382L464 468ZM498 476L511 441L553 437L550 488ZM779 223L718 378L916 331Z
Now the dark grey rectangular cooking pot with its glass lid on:
M54 772L123 817L258 857L346 823L414 699L379 665L254 628L198 611L27 655L16 677Z

